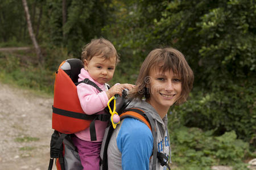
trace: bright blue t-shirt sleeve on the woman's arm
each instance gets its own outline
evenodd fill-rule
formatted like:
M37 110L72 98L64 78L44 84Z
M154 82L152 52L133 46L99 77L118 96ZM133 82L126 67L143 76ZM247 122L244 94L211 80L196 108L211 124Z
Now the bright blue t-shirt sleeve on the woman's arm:
M122 154L122 169L149 169L153 148L151 130L135 118L125 118L117 136Z

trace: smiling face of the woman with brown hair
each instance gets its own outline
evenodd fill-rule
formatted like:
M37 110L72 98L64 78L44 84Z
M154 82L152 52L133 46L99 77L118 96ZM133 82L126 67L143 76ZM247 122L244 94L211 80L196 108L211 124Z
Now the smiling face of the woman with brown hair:
M150 97L147 101L157 112L166 114L181 95L181 79L172 70L163 72L160 69L151 69L149 78Z

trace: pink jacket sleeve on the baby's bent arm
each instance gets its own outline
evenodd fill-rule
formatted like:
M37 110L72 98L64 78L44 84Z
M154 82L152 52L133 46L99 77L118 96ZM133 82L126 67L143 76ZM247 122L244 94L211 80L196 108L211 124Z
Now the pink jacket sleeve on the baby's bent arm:
M86 114L94 114L102 111L109 101L105 91L97 94L96 88L84 83L77 86L77 95L79 96L82 110Z

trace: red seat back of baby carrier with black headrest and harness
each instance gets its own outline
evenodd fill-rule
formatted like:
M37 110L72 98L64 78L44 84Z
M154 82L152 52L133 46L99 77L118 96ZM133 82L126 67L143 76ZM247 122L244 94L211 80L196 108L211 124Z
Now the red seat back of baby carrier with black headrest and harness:
M57 169L65 169L63 158L65 144L72 143L71 136L73 133L90 128L91 141L97 141L95 121L110 120L110 114L87 115L82 111L76 86L80 83L86 83L97 88L98 91L102 91L89 79L77 82L83 67L80 59L72 58L63 61L56 71L52 106L52 128L55 131L51 138L51 159L48 169L52 169L54 158L56 158Z

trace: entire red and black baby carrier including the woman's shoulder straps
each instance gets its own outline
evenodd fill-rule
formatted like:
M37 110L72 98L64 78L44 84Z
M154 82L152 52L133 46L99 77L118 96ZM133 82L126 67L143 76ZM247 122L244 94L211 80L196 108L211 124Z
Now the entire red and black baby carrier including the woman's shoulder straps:
M96 141L96 132L94 127L95 120L109 121L110 114L93 114L92 116L85 114L82 111L79 98L77 96L76 86L80 83L90 84L91 86L101 91L101 89L89 79L77 82L80 70L84 67L80 59L68 59L61 63L58 71L56 71L54 100L52 112L52 128L55 130L51 137L50 162L48 170L52 169L53 159L56 159L56 167L58 170L83 169L77 148L72 143L72 135L77 131L90 128L91 141ZM167 165L168 158L157 152L155 141L155 125L150 116L146 116L144 112L138 108L127 109L130 100L126 100L126 91L123 91L122 97L117 96L116 111L121 120L126 117L137 118L144 122L152 131L154 138L153 148L153 167L156 168L156 159L161 165ZM110 103L113 108L114 103ZM109 112L108 108L106 111ZM114 128L109 124L106 129L104 141L101 148L101 168L108 169L108 144L112 136ZM170 167L168 167L170 169Z

